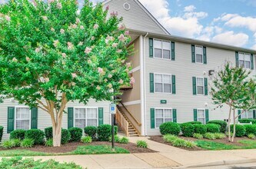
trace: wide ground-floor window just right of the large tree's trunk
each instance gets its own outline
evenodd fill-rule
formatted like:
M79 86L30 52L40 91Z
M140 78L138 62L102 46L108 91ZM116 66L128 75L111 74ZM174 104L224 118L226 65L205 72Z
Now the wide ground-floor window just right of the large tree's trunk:
M76 128L98 125L98 108L74 108L74 114Z

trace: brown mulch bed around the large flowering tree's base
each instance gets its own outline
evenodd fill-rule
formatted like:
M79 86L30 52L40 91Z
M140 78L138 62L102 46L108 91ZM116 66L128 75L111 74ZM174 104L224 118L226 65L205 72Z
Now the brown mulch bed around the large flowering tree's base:
M108 141L92 141L90 144L83 144L81 142L71 142L68 144L62 145L62 147L45 147L44 145L35 145L31 148L22 148L15 147L9 150L28 150L28 151L37 151L44 153L54 153L54 154L62 154L68 153L71 151L75 151L78 146L86 146L86 145L109 145L111 146L111 142ZM125 148L130 151L130 153L155 153L156 151L152 151L148 148L137 147L136 144L128 143L128 144L118 144L115 143L115 146ZM6 149L0 148L0 151L6 151Z

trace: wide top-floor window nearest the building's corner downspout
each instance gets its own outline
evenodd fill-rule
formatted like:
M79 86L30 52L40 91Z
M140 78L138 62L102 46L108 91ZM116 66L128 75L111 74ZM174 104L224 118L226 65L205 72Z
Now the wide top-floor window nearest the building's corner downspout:
M154 58L171 59L171 41L154 39Z

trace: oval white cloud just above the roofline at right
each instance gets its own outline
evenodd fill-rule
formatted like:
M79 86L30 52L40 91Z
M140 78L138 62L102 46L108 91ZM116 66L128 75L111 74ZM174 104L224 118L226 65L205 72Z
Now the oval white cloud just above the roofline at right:
M215 35L212 41L221 44L243 46L248 42L249 36L244 33L234 34L234 31L226 31L219 35Z

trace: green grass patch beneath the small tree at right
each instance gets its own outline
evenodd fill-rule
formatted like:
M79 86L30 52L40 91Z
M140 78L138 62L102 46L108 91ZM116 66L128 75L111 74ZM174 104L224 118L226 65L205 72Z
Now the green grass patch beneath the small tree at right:
M211 151L220 151L220 150L234 150L234 149L253 149L256 148L256 141L249 140L241 140L239 143L243 144L241 146L231 145L231 144L223 144L215 141L194 141L198 147L201 147L206 150Z

